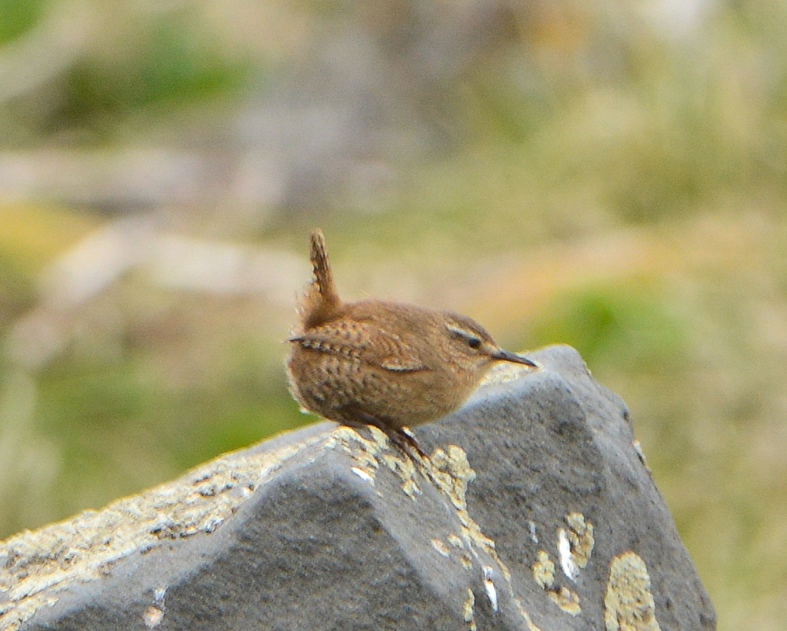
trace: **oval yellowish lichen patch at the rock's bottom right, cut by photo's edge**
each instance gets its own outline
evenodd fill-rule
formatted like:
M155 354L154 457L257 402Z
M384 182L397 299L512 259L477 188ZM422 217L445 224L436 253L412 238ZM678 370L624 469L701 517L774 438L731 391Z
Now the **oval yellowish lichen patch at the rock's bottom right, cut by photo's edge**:
M612 559L604 596L607 631L660 631L645 561L634 552Z

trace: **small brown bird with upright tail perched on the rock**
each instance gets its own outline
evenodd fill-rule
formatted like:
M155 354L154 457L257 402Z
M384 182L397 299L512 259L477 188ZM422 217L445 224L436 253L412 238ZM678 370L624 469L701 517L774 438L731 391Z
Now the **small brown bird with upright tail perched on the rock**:
M290 391L303 408L348 426L373 425L402 445L405 427L459 408L493 363L536 367L501 349L474 320L414 304L342 302L323 233L312 233L314 280L288 340Z

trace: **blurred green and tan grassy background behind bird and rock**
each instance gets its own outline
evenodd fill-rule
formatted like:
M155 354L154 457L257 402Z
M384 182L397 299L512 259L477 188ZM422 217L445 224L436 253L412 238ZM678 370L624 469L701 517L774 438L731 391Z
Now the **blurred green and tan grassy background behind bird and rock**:
M302 423L339 290L567 342L784 629L787 3L0 0L0 537Z

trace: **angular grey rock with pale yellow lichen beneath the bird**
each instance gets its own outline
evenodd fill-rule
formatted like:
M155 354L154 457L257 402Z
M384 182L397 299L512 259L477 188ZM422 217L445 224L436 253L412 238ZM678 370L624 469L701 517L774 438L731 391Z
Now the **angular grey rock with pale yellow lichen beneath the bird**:
M623 401L565 346L416 429L320 423L0 547L0 629L715 629Z

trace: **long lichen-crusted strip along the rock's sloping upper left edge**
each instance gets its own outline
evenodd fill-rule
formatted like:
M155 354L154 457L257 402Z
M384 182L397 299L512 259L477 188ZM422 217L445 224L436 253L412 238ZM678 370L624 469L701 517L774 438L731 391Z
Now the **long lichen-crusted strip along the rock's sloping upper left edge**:
M17 629L57 592L102 577L117 560L167 541L210 534L255 489L301 449L322 437L272 452L228 453L179 478L102 511L81 515L0 542L0 629Z

